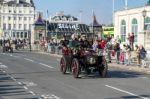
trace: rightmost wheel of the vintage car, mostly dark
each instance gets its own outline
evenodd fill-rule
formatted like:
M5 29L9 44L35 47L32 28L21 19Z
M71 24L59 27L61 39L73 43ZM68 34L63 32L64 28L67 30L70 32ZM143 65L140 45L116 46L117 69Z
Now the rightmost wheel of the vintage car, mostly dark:
M103 60L102 66L100 67L99 73L100 73L100 75L101 75L102 77L106 77L106 76L107 76L107 71L108 71L107 62L106 62L106 60Z

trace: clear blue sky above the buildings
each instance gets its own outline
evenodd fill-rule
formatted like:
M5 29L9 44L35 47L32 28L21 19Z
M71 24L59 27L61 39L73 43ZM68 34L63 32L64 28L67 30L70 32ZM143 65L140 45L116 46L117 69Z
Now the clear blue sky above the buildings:
M100 24L110 24L112 22L112 0L33 0L37 10L48 9L50 15L64 11L79 17L82 11L82 22L90 24L92 21L92 9ZM147 0L128 0L129 8L139 7L146 4ZM124 0L115 0L115 10L124 8Z

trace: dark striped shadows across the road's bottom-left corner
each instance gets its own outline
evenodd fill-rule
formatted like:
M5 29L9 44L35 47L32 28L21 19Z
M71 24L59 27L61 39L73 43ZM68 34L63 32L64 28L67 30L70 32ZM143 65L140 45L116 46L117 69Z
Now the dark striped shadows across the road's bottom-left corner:
M26 91L22 85L13 81L9 75L0 73L0 99L21 99L19 97L25 97L22 99L38 99L33 98L35 96L32 96L31 93Z

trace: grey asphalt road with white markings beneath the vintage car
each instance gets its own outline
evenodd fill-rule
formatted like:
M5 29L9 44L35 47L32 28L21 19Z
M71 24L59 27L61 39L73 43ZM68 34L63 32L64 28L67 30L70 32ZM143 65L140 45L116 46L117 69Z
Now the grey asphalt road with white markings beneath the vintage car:
M75 79L60 73L59 60L27 51L0 53L0 99L150 99L150 75L109 67L107 78Z

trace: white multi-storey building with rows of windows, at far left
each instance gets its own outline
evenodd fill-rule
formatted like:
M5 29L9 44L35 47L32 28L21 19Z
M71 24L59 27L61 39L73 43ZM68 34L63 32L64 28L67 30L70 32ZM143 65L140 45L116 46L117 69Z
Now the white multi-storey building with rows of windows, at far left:
M4 38L28 39L35 20L32 0L4 0L0 4L0 27Z

